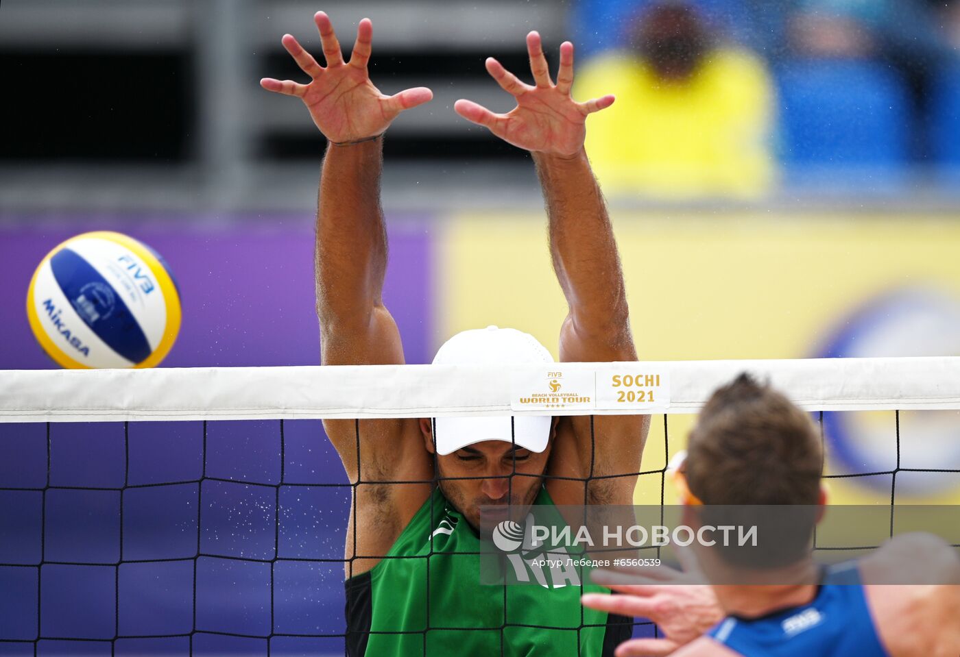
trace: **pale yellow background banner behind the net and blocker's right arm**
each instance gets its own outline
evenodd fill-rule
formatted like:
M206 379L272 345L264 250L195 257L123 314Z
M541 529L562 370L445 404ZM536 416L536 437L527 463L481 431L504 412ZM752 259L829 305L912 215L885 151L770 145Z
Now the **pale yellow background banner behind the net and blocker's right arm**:
M960 294L960 222L869 217L664 211L615 212L640 360L811 358L864 302L904 285ZM437 344L489 324L527 331L556 358L564 295L540 213L463 215L438 246ZM891 424L892 413L883 413ZM669 453L683 449L693 416L670 415ZM655 416L643 470L664 467ZM889 493L829 482L832 501L890 504ZM664 487L675 503L672 486ZM673 496L673 497L671 497ZM956 492L937 496L960 503ZM638 504L660 504L660 474L641 478Z

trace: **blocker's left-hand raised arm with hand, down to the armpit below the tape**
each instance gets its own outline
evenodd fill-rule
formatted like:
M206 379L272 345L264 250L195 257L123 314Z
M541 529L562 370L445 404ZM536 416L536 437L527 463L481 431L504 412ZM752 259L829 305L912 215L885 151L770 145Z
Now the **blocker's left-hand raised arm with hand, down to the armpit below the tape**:
M349 61L344 61L330 19L314 16L324 48L321 67L291 35L283 46L311 82L264 79L269 90L297 96L329 145L324 157L317 210L316 283L323 364L402 364L394 318L381 296L387 268L387 235L380 207L383 132L403 110L430 100L418 87L385 96L367 71L372 24L360 21ZM357 423L324 421L324 428L356 487L348 528L347 558L382 555L429 495L432 464L415 419L365 420L358 462ZM356 529L357 552L353 553ZM378 559L348 561L347 575L372 568Z

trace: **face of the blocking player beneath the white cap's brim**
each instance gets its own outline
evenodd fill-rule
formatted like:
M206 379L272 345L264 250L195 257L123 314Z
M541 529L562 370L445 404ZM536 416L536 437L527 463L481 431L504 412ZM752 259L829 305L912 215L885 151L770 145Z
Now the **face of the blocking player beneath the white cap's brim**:
M437 457L440 488L474 528L480 527L480 506L498 507L490 520L518 521L537 497L549 456L550 446L537 453L503 440L474 443Z

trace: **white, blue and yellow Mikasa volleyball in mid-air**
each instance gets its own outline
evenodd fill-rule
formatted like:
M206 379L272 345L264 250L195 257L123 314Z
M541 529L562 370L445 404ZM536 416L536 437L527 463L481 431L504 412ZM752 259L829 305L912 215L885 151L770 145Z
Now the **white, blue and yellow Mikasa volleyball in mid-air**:
M84 233L40 262L27 317L61 367L153 367L180 332L180 291L150 246L121 233Z

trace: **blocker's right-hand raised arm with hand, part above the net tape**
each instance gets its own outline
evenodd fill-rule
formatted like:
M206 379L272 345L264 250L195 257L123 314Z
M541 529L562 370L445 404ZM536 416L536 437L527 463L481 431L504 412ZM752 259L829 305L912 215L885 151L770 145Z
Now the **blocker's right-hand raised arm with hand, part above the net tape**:
M466 119L533 155L549 218L550 253L569 313L561 332L564 361L636 360L627 296L607 208L590 171L584 138L588 114L613 103L604 96L587 103L570 97L573 44L560 47L557 83L550 80L540 35L527 35L536 85L520 82L496 59L487 70L516 98L508 114L494 114L471 101L456 110Z

